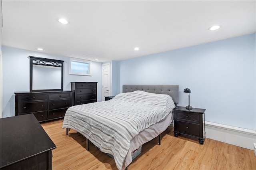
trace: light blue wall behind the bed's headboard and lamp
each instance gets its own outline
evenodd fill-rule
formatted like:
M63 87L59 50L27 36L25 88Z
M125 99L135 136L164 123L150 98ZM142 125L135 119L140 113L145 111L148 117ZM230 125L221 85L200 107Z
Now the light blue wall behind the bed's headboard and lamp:
M119 61L123 84L178 84L179 106L206 109L206 121L256 128L255 34Z

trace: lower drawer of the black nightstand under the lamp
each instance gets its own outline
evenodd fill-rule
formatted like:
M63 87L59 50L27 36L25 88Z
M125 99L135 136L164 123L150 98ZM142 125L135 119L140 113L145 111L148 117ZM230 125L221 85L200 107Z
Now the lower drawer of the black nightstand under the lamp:
M177 121L177 131L194 136L200 136L200 125Z

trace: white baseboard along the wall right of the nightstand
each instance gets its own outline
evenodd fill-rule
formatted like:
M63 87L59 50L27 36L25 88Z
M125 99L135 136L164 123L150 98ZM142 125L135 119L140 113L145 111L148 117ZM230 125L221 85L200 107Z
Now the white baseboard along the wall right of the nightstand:
M205 131L206 138L254 150L254 143L256 143L255 130L206 121Z

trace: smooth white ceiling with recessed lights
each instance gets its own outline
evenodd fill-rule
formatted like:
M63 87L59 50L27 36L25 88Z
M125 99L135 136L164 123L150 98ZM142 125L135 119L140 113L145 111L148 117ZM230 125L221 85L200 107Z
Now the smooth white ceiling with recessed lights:
M123 60L252 34L255 2L2 0L1 44L98 62ZM208 30L216 24L222 27Z

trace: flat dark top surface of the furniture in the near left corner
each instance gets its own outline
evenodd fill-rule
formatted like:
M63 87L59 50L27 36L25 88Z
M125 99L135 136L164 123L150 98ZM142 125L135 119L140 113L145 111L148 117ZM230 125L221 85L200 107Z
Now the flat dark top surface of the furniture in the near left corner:
M34 114L0 119L0 166L4 168L26 158L48 152L56 145Z

